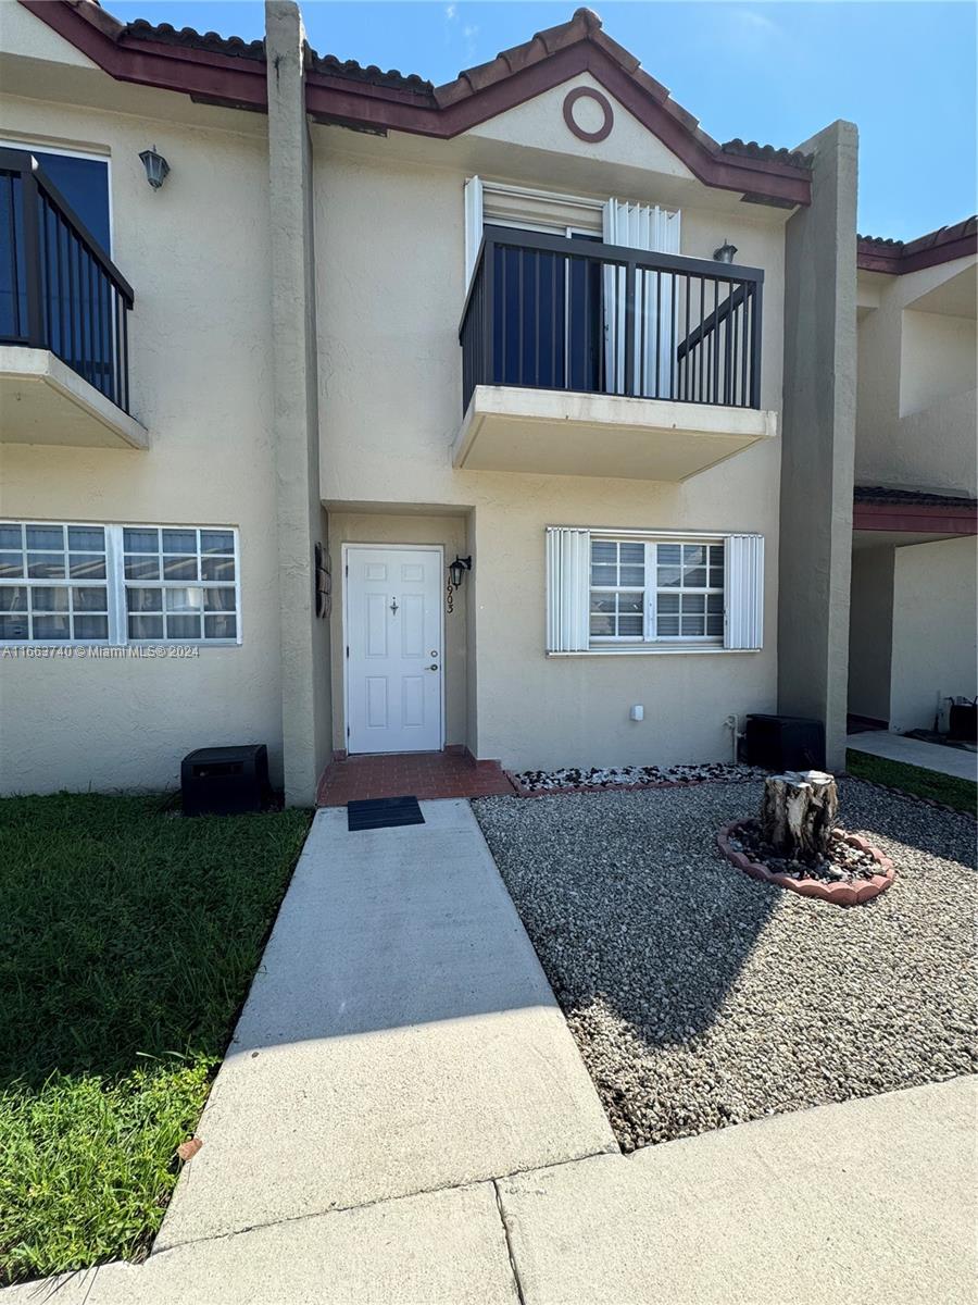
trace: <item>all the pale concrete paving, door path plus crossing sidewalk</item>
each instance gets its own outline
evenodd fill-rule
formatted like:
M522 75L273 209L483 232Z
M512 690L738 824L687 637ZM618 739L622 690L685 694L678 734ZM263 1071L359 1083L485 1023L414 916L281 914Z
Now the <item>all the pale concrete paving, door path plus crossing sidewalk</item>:
M978 1079L618 1152L466 803L323 810L145 1265L3 1305L957 1305Z

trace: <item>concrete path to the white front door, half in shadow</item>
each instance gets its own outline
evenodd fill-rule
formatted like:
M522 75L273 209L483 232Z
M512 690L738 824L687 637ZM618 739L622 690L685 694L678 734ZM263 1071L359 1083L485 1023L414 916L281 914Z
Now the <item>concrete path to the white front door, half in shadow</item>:
M156 1250L617 1151L466 801L317 813Z

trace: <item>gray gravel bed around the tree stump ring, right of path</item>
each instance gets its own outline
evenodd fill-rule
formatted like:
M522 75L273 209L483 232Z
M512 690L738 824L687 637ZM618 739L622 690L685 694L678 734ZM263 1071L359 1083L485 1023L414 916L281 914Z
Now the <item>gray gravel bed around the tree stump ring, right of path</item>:
M472 804L626 1151L978 1069L974 820L841 780L896 882L827 910L720 855L762 790Z

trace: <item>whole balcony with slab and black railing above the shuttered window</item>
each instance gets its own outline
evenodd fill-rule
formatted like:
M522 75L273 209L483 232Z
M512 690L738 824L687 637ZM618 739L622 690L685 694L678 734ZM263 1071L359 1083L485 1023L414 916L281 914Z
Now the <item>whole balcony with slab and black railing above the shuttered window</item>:
M488 228L459 328L452 465L686 480L777 433L764 273Z

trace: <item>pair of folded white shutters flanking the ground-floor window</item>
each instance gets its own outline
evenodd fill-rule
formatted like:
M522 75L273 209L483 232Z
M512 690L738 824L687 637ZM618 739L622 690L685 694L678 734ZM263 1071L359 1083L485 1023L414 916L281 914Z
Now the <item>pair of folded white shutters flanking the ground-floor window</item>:
M759 650L764 638L764 536L724 536L724 647ZM591 531L546 529L546 651L591 646Z

